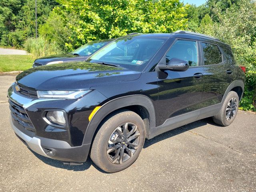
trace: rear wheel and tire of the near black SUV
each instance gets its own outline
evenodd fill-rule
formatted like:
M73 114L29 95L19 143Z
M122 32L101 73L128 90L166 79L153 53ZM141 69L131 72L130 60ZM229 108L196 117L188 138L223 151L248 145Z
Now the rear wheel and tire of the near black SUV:
M230 105L232 103L232 99L234 99L233 100L235 103L234 106L233 104ZM238 111L238 103L239 103L238 94L234 91L230 91L224 100L224 103L220 109L220 112L216 116L213 116L213 121L216 124L219 124L221 126L230 125L236 117L236 114Z

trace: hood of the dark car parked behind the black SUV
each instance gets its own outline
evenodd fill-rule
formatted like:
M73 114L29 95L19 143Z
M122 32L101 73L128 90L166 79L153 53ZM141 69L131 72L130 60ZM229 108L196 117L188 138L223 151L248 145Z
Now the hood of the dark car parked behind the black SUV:
M40 63L44 65L52 61L65 61L65 60L72 60L72 59L76 60L79 58L85 58L85 57L73 55L73 54L58 54L58 55L51 55L51 56L38 58L35 60L35 63Z

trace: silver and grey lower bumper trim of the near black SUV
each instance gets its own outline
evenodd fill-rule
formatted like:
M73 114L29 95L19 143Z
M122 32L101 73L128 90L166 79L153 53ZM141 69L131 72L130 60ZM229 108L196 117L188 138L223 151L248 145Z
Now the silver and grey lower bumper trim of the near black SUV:
M71 147L67 142L61 140L30 137L16 128L12 119L10 124L15 134L22 139L28 148L42 156L68 162L85 162L88 157L90 144Z

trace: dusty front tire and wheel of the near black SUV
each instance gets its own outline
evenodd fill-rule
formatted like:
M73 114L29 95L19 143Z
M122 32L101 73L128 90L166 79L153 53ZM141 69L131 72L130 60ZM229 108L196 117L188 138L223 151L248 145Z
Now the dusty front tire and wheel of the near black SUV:
M121 132L120 128L122 130ZM125 133L124 129L128 131ZM127 138L128 134L134 130L135 132L130 134L129 138ZM124 135L125 137L123 138ZM98 130L92 143L90 157L99 168L106 172L114 173L124 170L132 165L138 158L144 145L145 136L145 125L138 114L129 110L116 112L112 114L112 116L110 116ZM130 140L132 137L134 139ZM122 142L120 142L120 139ZM129 140L134 143L130 143ZM113 144L110 144L111 142L113 142ZM124 142L127 142L128 144L123 144ZM136 149L132 148L129 143L132 146L134 145L135 147L133 147ZM138 145L138 147L136 145ZM109 152L113 148L115 148L115 150L113 152ZM122 152L122 150L124 152ZM132 153L132 150L135 150L135 152ZM118 158L113 160L116 157L115 154L118 154ZM121 154L122 158L120 158ZM124 157L126 158L125 161Z

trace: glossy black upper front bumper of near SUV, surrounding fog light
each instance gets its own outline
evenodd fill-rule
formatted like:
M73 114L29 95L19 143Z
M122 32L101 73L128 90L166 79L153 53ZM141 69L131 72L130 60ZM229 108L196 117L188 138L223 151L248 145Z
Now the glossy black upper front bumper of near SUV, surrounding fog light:
M28 121L28 124L24 124L24 126L30 130L34 129L32 130L34 135L30 135L31 132L26 132L24 129L21 130L20 125L13 122L20 131L30 137L36 136L37 138L65 141L72 147L82 146L91 142L91 140L84 140L89 124L88 117L96 106L107 101L107 98L96 90L77 100L38 99L16 91L14 86L9 88L8 98L10 99L10 106L13 105L13 109L10 108L11 112L15 112L16 109L21 110L21 120L26 118L25 121ZM18 106L15 106L15 104ZM44 120L45 111L47 110L65 111L68 128L60 129L48 124ZM19 115L19 113L16 115ZM23 124L23 122L20 123Z

